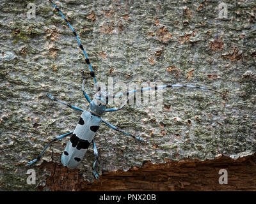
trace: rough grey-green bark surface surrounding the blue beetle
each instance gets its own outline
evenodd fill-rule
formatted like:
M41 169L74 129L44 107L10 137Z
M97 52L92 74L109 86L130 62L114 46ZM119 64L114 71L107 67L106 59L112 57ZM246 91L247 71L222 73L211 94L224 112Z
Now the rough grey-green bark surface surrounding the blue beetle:
M35 3L35 19L26 15L29 3ZM225 1L228 18L223 19L220 3L56 1L83 43L98 82L108 86L113 77L114 84L200 85L228 98L173 88L163 92L164 108L157 112L154 105L126 105L106 113L108 122L148 143L102 124L95 136L99 175L140 168L145 161L205 161L221 154L237 159L255 152L256 3ZM72 31L48 1L1 0L0 27L0 189L34 191L52 173L40 166L61 164L68 138L53 143L35 165L25 164L49 140L73 131L81 115L51 101L45 91L86 109L81 71L89 69ZM89 75L86 91L92 98ZM85 181L94 180L94 159L91 145L78 167ZM36 171L36 185L26 182L29 168Z

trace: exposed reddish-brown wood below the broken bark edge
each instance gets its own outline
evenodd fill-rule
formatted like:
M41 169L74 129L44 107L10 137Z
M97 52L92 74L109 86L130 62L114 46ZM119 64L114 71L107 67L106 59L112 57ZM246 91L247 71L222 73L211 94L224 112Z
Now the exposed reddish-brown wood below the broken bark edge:
M44 163L51 171L46 186L51 191L255 191L256 154L231 159L167 161L165 164L145 163L129 171L106 172L99 181L88 183L79 170ZM219 184L219 171L228 172L228 184ZM44 190L41 187L41 190Z

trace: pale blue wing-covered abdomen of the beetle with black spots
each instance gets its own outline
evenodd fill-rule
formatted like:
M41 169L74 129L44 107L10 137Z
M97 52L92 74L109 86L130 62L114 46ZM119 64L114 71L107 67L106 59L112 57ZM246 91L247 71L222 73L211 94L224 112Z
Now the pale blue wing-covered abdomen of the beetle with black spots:
M99 129L101 119L84 111L70 137L62 156L61 163L68 168L76 168L81 163L90 143Z

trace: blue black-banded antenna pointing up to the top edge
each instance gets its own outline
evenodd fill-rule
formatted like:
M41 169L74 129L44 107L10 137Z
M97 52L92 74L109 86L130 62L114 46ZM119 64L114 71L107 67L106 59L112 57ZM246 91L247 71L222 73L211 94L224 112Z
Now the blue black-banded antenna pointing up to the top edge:
M89 68L90 68L90 75L91 75L91 77L93 78L94 84L97 85L96 78L95 78L95 73L94 73L94 71L93 71L93 69L92 69L92 64L91 64L91 62L90 62L88 56L86 55L86 52L85 52L85 50L84 50L84 47L83 47L81 41L79 40L79 38L78 38L78 36L77 36L77 34L76 34L76 31L75 31L75 30L73 29L73 27L70 25L70 23L68 22L67 18L62 14L61 10L56 6L56 4L54 4L51 0L48 0L48 1L50 1L51 4L54 6L54 8L56 8L56 10L59 11L61 17L67 22L67 24L68 24L68 26L70 27L70 29L72 30L74 36L76 36L76 39L77 39L77 41L78 41L78 43L79 43L79 48L81 48L81 50L83 51L83 54L84 54L84 57L85 57L85 62L86 62L86 64L89 65Z

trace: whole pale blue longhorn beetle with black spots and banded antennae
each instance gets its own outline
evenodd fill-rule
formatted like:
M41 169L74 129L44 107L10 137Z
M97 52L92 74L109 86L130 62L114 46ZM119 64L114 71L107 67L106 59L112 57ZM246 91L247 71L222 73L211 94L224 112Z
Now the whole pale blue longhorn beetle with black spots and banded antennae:
M67 103L65 103L63 101L59 101L58 99L53 98L50 94L46 93L46 96L48 96L50 99L52 99L52 101L62 103L64 105L68 106L69 108L72 108L74 110L79 110L83 113L79 119L79 122L78 122L74 132L70 132L70 133L66 133L64 135L57 136L56 138L51 140L51 142L47 143L44 150L42 150L42 152L39 154L39 156L36 159L29 161L29 163L26 164L26 166L29 166L29 165L35 163L36 161L38 161L44 154L45 150L49 147L49 145L51 145L52 142L61 140L62 138L65 138L66 136L71 135L70 140L68 141L67 146L66 146L63 154L61 155L61 163L64 166L67 166L68 168L76 168L78 166L78 164L81 163L86 151L88 150L90 143L92 143L93 144L93 152L96 157L96 159L93 163L92 169L93 169L93 174L94 174L95 178L99 179L99 176L97 175L97 173L95 171L95 165L98 161L99 156L98 156L97 148L96 148L95 142L93 141L93 138L95 136L95 133L98 131L101 122L103 122L110 128L115 129L115 131L123 133L124 135L127 135L127 136L131 136L132 138L139 140L140 142L146 142L143 138L140 138L140 136L134 136L129 133L125 133L124 131L121 131L120 129L116 128L112 124L109 124L108 122L106 122L106 120L101 118L101 116L105 112L115 112L115 111L121 110L129 100L129 99L127 99L125 101L124 105L122 105L120 108L106 108L110 97L116 98L116 97L122 96L124 94L126 94L126 96L129 96L129 94L131 94L133 92L137 92L137 91L142 92L142 91L146 91L146 90L150 90L150 89L163 89L163 88L170 88L170 87L189 87L189 88L196 88L196 89L204 89L207 91L214 91L219 94L222 94L219 91L215 91L213 89L207 89L205 87L199 87L199 86L195 86L195 85L180 85L180 84L168 84L168 85L162 85L162 86L158 86L158 87L147 87L147 88L137 89L137 90L133 90L133 91L129 91L129 92L122 92L122 93L116 94L116 95L109 95L106 92L100 91L100 87L97 86L97 81L95 78L95 73L92 69L92 65L90 63L88 56L86 55L86 52L83 48L81 41L79 40L79 38L76 34L76 31L74 31L73 27L70 25L67 18L65 18L65 16L60 11L60 9L56 6L56 4L52 3L51 0L48 0L48 1L50 1L52 6L54 6L54 8L56 8L56 10L59 11L61 17L67 22L68 27L70 27L74 36L76 37L76 39L79 43L79 47L83 51L83 54L85 57L85 62L86 62L86 64L88 64L88 66L90 68L90 75L93 78L95 87L97 87L98 92L94 95L93 100L91 100L89 98L86 91L84 91L85 75L84 75L84 72L82 71L82 76L83 76L82 91L83 91L85 99L89 103L88 110L82 110L81 108L77 108L76 106L68 105ZM227 97L224 94L222 94L222 96L227 100Z

